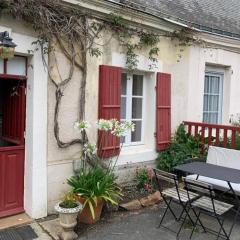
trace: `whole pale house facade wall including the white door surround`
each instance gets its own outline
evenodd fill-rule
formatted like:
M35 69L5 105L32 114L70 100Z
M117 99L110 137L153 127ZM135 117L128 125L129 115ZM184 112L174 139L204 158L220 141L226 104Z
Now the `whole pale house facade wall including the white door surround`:
M79 159L80 146L60 149L53 132L55 107L55 87L48 79L39 52L30 55L34 34L21 22L8 18L0 19L0 31L6 28L12 32L18 44L17 53L28 56L31 66L28 68L27 85L27 127L26 127L26 166L25 166L25 209L34 218L43 217L53 212L54 204L68 189L66 179L73 174L72 163ZM124 55L117 39L110 33L103 33L100 38L102 56L88 57L88 76L86 87L86 120L94 126L98 117L98 77L99 65L119 66L126 70ZM220 40L219 40L220 41ZM108 43L104 45L104 43ZM218 46L219 47L219 46ZM157 69L149 70L146 52L139 52L138 71L147 77L146 96L147 117L145 121L144 144L123 149L119 158L120 172L125 172L121 179L131 178L125 169L134 164L150 164L157 156L155 152L155 83L156 72L172 75L172 132L183 121L202 121L203 85L206 66L220 67L224 70L224 106L223 123L228 123L229 115L240 112L239 81L240 54L218 47L203 48L191 46L184 49L182 58L177 61L179 47L169 39L162 38L159 43L160 54ZM59 73L68 72L69 64L60 50L56 51L56 62L52 56L49 65L52 75L59 80ZM33 67L33 68L32 68ZM81 73L76 69L71 83L64 91L60 109L60 137L63 141L78 137L73 129L78 119L79 91ZM151 113L151 114L149 114ZM90 140L96 139L96 130L89 132Z

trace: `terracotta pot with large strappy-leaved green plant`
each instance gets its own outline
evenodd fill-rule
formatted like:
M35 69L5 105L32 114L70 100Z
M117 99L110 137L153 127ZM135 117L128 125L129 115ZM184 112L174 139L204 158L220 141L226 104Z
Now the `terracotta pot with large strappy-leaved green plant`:
M83 205L80 222L93 224L98 221L105 202L117 205L122 193L115 180L112 172L100 166L82 170L79 176L68 179L68 184Z

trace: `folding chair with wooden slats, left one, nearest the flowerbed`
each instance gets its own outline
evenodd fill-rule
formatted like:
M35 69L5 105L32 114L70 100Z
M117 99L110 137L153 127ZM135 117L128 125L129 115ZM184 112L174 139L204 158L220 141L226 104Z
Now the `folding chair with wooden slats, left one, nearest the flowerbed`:
M154 171L154 174L156 177L156 182L157 182L157 186L158 186L159 192L161 194L161 197L162 197L163 201L165 202L165 204L167 205L158 227L162 226L164 228L167 228L167 227L163 226L162 223L163 223L163 220L166 217L166 214L168 211L170 211L170 213L173 215L175 221L177 221L177 222L179 222L182 219L183 214L185 212L186 215L185 215L184 219L186 220L186 218L188 217L190 219L192 225L194 226L194 221L192 220L192 217L189 214L188 204L190 201L197 199L199 197L199 195L197 193L186 191L185 189L179 188L178 178L175 174L164 172L164 171L161 171L158 169L153 169L153 171ZM164 186L165 186L164 183L168 183L168 185L172 185L172 187L164 188ZM175 202L182 207L182 211L178 217L176 216L174 209L171 207L172 202ZM174 232L170 228L167 228L167 229ZM182 229L182 225L178 232L174 232L177 234L177 237L179 236L181 229Z

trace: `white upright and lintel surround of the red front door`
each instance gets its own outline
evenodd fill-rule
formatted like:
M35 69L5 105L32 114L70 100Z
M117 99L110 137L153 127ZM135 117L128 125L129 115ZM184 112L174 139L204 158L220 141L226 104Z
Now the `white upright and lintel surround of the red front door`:
M0 18L0 31L9 31L17 44L16 54L28 58L24 209L32 218L47 214L47 73L31 28L10 17ZM31 53L31 54L30 54Z

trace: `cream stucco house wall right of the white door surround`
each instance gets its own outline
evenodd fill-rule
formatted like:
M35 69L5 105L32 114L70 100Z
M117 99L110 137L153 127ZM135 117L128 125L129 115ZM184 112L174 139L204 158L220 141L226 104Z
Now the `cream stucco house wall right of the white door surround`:
M109 40L110 34L102 34L101 43ZM224 106L223 106L223 123L228 123L228 118L231 113L239 112L240 109L236 104L239 101L240 94L236 88L239 81L239 61L240 55L226 50L215 48L203 48L191 46L184 49L182 58L177 61L179 47L176 43L169 39L161 39L159 43L160 55L158 67L155 70L149 70L149 62L146 51L139 52L140 61L138 71L147 76L147 97L146 104L148 106L148 113L145 122L145 144L139 146L132 146L123 148L121 156L118 161L119 169L125 169L128 172L129 168L134 168L134 164L149 163L157 156L155 152L155 81L156 72L167 72L172 75L172 132L184 120L202 121L203 109L203 85L204 74L206 66L217 66L224 70ZM88 77L86 90L86 119L95 124L98 116L98 68L100 64L119 66L126 68L124 55L117 40L113 38L108 42L107 46L100 49L103 54L99 58L88 59ZM77 98L73 94L74 87L79 83L79 78L73 79L76 81L66 89L66 99L62 105L64 116L62 122L64 126L69 129L69 133L63 136L75 136L72 125L74 119L77 117L76 112L78 105ZM78 82L78 83L77 83ZM51 83L50 83L51 85ZM50 89L52 87L50 86ZM68 98L67 98L68 96ZM65 98L65 97L64 97ZM69 104L71 102L71 104ZM53 92L49 91L49 119L52 119L53 112ZM72 105L73 104L73 105ZM66 114L67 113L67 114ZM75 118L74 118L75 117ZM48 146L48 209L52 212L53 205L56 203L59 196L61 196L66 189L66 178L72 172L72 160L79 158L79 147L71 147L68 150L59 150L56 147L56 142L52 135L52 123L49 123L49 146ZM89 133L90 139L95 139L96 131ZM54 156L54 157L53 157ZM62 174L59 174L59 173ZM133 172L133 171L132 171ZM131 174L123 174L123 180L126 176L130 179Z

